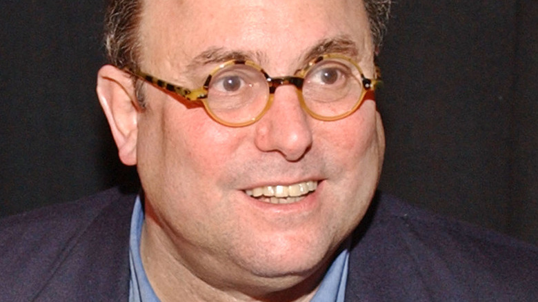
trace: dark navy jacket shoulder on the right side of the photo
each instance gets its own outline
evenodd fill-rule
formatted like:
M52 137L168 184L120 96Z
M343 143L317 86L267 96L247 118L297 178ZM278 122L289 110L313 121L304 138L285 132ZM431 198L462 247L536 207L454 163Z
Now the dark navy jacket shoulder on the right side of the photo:
M378 195L368 215L350 256L351 296L538 301L535 245L432 214L386 194Z

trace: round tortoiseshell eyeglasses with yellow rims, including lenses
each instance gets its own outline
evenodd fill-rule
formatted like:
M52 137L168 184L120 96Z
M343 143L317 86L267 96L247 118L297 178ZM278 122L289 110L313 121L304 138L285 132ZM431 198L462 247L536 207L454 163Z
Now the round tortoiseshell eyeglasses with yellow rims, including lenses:
M301 108L315 119L336 121L355 112L366 92L373 92L381 83L377 76L364 77L358 64L341 54L324 54L295 76L278 78L270 77L252 61L231 60L215 68L203 86L195 90L145 72L128 72L188 101L203 103L215 121L230 127L250 125L261 119L281 85L294 85Z

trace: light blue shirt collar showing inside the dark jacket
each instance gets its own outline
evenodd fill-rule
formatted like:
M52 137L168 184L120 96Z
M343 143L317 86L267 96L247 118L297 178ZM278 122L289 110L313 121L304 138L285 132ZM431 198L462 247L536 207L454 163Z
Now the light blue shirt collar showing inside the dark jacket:
M130 288L129 302L159 302L157 294L150 285L146 271L142 265L140 256L140 236L144 212L140 197L137 197L135 208L132 210L130 239L129 239L129 263L130 263ZM340 254L332 262L327 270L319 289L311 302L343 302L346 293L346 281L348 279L349 240L344 243Z

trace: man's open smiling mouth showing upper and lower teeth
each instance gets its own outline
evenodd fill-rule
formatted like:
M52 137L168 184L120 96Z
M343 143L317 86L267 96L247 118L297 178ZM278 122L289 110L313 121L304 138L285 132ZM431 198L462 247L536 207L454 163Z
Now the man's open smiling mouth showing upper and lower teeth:
M317 189L317 181L305 181L292 185L266 185L245 190L245 193L266 203L295 203Z

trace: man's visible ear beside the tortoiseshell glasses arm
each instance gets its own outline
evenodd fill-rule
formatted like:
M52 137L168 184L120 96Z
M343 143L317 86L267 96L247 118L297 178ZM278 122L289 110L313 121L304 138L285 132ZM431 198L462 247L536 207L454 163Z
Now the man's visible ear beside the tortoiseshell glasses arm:
M116 141L119 159L126 165L136 165L141 108L130 75L111 65L101 67L97 74L97 96Z

